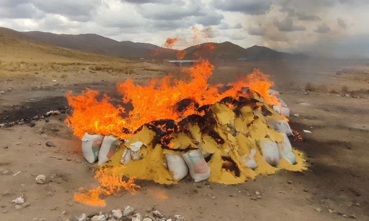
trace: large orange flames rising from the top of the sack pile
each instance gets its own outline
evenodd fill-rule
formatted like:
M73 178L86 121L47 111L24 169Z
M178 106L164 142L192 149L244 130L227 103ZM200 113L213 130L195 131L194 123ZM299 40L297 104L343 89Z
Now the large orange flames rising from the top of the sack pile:
M123 102L130 102L133 110L128 117L122 117L125 113L122 107L114 107L109 103L109 97L104 95L97 99L97 91L86 89L82 95L73 95L71 91L66 93L69 106L73 108L73 114L65 120L67 125L73 128L74 135L82 138L85 132L103 135L114 135L124 139L131 136L127 133L134 132L145 123L160 119L172 119L176 122L190 114L200 114L192 105L185 110L178 111L177 103L183 99L190 99L198 107L215 104L224 97L245 96L243 88L249 87L261 95L269 105L277 105L277 98L268 94L273 82L268 75L255 69L250 75L240 78L235 83L229 83L229 89L219 92L220 85L208 84L214 66L208 60L200 59L193 67L183 69L183 73L190 76L189 81L173 80L165 77L161 80L153 79L146 86L134 84L132 80L125 83L117 83L118 91L123 94Z

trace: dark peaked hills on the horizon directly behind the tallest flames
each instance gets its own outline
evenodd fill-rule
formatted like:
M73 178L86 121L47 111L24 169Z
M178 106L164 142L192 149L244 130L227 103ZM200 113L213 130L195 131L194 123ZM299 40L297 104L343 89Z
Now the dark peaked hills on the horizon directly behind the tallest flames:
M308 58L307 55L292 55L257 45L245 49L228 41L222 43L204 43L189 47L185 51L186 55L184 59L196 59L197 56L224 60L237 60L240 58L247 58L247 60L291 60Z

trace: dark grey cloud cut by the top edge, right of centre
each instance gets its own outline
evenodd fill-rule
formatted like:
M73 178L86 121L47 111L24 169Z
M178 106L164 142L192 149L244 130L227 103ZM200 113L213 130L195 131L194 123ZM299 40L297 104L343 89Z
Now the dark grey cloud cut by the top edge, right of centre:
M272 5L272 0L213 0L215 8L222 11L241 12L246 15L264 15Z

